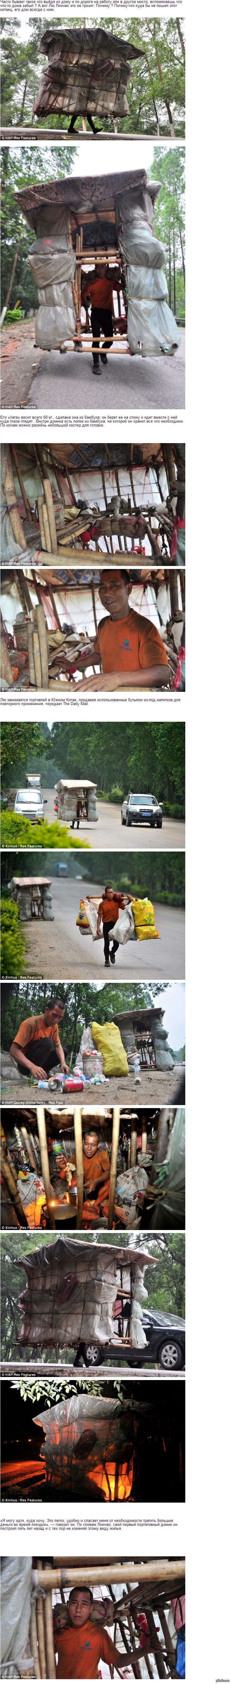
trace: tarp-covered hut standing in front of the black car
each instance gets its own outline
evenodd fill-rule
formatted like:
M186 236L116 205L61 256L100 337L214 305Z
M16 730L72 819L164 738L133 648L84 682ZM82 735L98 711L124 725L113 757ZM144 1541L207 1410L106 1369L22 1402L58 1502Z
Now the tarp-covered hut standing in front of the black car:
M126 1061L127 1063L127 1061ZM17 1260L15 1260L17 1261ZM127 1268L124 1263L127 1261ZM75 1346L99 1339L107 1344L114 1332L114 1302L121 1287L131 1292L132 1265L132 1344L136 1324L142 1317L141 1287L149 1258L116 1251L112 1246L87 1246L60 1236L54 1246L42 1246L22 1258L28 1285L20 1297L20 1344ZM18 1265L17 1265L18 1266ZM142 1329L141 1329L142 1332ZM146 1335L142 1332L142 1344Z

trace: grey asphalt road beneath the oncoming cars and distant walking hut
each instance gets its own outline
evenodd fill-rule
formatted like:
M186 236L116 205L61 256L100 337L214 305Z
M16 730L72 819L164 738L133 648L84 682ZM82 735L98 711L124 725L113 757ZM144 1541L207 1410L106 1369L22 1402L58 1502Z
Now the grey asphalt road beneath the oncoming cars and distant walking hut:
M47 800L45 807L47 823L54 825L55 791L44 790L42 786L42 793L44 800ZM97 825L80 823L79 830L77 827L72 830L72 827L67 825L70 837L74 839L80 837L80 842L90 842L90 847L94 850L95 849L105 850L105 847L109 847L109 849L122 849L127 854L127 849L134 852L134 849L186 847L186 825L181 820L162 818L162 830L151 830L151 825L132 825L132 829L127 830L126 825L121 823L121 807L114 807L112 802L97 800L97 812L99 812ZM79 855L79 864L80 864L80 855Z

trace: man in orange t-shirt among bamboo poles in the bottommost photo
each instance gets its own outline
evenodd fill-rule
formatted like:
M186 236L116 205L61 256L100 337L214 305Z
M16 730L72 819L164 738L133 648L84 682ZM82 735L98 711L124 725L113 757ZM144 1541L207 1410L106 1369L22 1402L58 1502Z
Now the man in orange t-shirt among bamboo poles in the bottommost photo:
M54 1645L57 1650L57 1679L97 1679L99 1662L104 1660L121 1671L127 1671L127 1652L121 1652L112 1644L112 1637L92 1615L94 1596L87 1585L70 1590L65 1608L57 1603L54 1610ZM151 1637L144 1649L136 1649L136 1660L152 1650Z

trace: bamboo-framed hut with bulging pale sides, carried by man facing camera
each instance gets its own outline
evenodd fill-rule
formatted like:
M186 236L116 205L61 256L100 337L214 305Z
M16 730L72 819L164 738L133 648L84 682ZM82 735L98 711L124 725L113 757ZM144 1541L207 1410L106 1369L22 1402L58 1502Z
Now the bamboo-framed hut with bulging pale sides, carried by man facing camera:
M166 248L152 232L159 192L161 182L147 182L146 170L124 170L70 175L15 194L35 232L27 261L38 288L35 344L42 350L92 350L80 296L80 276L92 258L95 269L102 259L109 269L117 264L121 278L109 354L161 357L177 350L181 333L166 303Z

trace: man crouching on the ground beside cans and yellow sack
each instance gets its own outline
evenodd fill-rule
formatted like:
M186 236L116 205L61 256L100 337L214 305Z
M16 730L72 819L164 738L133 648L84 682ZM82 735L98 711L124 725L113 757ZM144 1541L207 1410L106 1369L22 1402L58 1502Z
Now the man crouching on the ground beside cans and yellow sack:
M35 1076L37 1081L45 1081L55 1064L60 1066L62 1073L69 1071L59 1039L64 1012L62 1000L52 999L42 1017L23 1019L10 1047L10 1058L15 1059L20 1076Z

